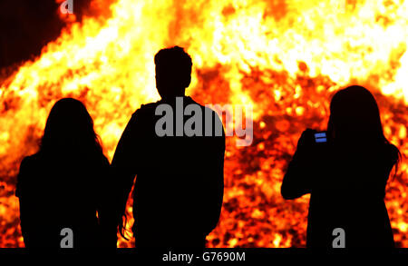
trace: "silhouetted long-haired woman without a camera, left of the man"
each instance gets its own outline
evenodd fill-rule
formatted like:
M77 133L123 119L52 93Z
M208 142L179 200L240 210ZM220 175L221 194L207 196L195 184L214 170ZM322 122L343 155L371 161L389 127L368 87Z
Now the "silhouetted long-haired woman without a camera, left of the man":
M39 152L24 158L17 177L25 247L59 248L63 228L73 231L73 248L116 247L109 171L83 103L59 100Z

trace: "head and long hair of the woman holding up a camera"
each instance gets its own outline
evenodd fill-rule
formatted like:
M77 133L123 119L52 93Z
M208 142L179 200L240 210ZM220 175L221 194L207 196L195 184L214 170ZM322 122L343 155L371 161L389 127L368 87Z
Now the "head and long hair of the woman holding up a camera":
M391 147L391 160L395 165L401 161L401 153L384 136L380 111L374 95L362 86L352 85L338 91L330 103L327 133L335 143L370 147Z

